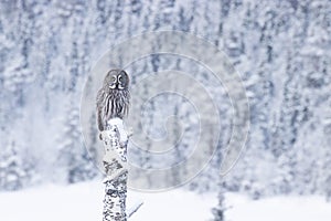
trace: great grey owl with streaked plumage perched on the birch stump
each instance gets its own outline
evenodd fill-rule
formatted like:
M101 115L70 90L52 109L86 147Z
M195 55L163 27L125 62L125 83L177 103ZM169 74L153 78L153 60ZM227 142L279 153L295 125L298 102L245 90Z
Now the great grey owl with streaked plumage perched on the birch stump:
M100 131L107 129L110 118L124 118L129 112L130 92L129 75L124 70L110 70L104 80L103 87L98 91L97 124Z

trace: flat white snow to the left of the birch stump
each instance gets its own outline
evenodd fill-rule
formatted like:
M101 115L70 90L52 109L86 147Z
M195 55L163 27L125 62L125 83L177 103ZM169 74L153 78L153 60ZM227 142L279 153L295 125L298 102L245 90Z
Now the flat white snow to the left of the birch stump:
M96 183L43 186L0 193L0 219L23 220L102 220L102 187Z

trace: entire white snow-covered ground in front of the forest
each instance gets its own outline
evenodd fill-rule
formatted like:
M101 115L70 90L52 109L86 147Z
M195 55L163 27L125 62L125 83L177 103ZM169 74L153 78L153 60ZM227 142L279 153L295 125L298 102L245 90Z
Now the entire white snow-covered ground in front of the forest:
M102 220L103 185L87 182L67 187L44 186L0 193L1 221L92 221ZM159 193L129 191L128 207L139 199L143 206L131 221L211 220L215 194L199 196L183 190ZM331 203L319 197L275 197L252 201L228 193L226 220L231 221L330 221Z

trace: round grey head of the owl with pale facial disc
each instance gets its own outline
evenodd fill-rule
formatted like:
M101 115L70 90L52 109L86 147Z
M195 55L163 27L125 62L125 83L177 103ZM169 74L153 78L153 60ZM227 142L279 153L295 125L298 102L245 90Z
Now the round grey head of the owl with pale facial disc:
M110 90L128 90L129 75L124 70L110 70L104 81L104 87Z

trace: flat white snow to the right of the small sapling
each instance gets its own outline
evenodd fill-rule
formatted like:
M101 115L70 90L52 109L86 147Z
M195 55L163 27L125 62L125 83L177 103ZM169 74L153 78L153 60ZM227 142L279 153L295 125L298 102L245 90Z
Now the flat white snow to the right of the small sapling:
M321 197L273 197L252 201L239 194L227 194L233 208L225 213L232 221L330 221L331 203Z

